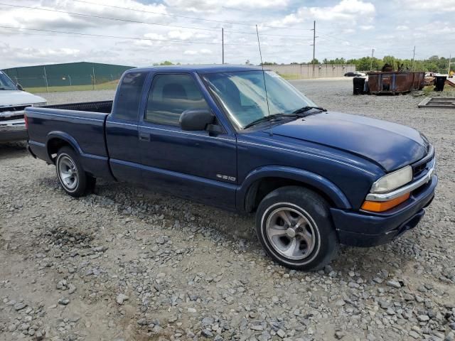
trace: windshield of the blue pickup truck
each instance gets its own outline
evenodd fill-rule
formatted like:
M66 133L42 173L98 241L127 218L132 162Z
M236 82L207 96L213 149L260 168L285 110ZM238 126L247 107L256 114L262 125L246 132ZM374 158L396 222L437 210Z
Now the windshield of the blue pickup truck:
M291 114L301 107L316 105L275 72L266 71L264 76L261 70L203 75L210 90L227 110L232 123L239 129L269 115L264 77L270 115Z

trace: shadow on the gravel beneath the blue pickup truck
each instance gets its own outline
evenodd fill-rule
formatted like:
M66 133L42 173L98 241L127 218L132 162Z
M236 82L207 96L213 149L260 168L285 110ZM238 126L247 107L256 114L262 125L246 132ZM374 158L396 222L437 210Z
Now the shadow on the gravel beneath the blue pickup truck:
M95 196L101 205L117 205L117 210L126 215L145 217L151 222L166 218L174 228L176 224L189 224L202 234L209 229L213 232L210 238L234 240L247 252L264 255L256 237L254 215L237 215L171 195L103 180L97 183ZM381 271L393 273L398 267L414 264L413 250L421 248L420 243L416 232L408 232L380 247L342 246L331 267L342 276L358 271L365 280L371 281Z

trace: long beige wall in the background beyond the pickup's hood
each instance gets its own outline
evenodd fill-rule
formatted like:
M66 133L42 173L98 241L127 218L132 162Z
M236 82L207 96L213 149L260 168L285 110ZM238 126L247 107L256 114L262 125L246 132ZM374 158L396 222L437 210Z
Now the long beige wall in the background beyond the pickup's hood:
M288 64L267 65L267 68L287 78L342 77L346 72L355 72L353 64ZM313 72L314 70L314 72Z

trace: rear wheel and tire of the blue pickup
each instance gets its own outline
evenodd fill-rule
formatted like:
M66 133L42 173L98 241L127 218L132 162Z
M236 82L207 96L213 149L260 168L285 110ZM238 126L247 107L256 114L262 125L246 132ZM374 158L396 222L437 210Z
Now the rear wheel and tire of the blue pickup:
M55 161L58 181L72 197L82 197L95 187L95 178L85 173L77 153L70 147L58 150Z

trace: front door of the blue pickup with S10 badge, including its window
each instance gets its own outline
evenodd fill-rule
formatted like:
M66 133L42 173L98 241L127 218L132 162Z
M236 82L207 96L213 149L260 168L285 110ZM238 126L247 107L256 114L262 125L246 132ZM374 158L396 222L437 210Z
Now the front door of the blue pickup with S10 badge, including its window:
M235 134L183 131L178 123L186 109L210 109L206 99L192 74L154 75L139 123L143 183L210 205L234 208Z

